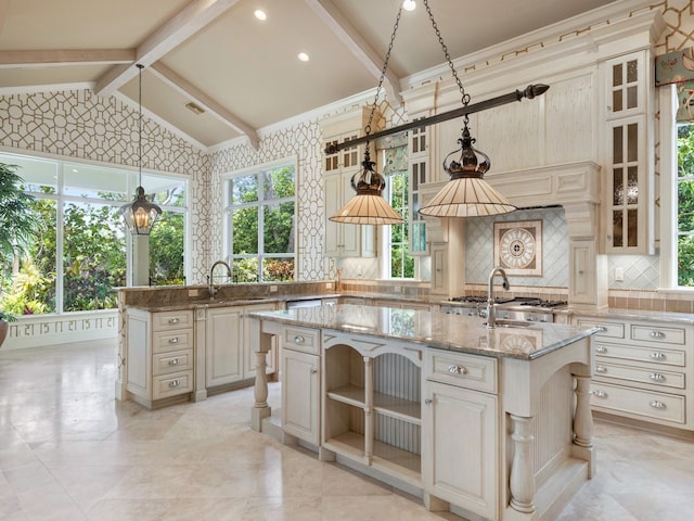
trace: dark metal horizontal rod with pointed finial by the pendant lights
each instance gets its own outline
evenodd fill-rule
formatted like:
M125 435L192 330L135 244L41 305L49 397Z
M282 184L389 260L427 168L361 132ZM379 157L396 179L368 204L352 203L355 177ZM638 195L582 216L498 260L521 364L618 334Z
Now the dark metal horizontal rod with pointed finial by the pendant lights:
M365 143L367 141L373 141L374 139L383 138L385 136L403 132L406 130L410 130L411 128L428 127L429 125L447 122L455 117L466 116L467 114L474 114L475 112L481 112L494 106L505 105L514 101L520 101L523 98L531 100L536 96L541 96L547 92L549 88L549 85L543 84L528 85L525 90L516 90L509 94L498 96L497 98L492 98L491 100L480 101L479 103L473 103L472 105L464 105L460 109L454 109L442 114L436 114L435 116L423 117L422 119L406 123L404 125L400 125L398 127L387 128L385 130L381 130L380 132L362 136L361 138L350 139L348 141L343 141L342 143L330 144L325 148L325 153L334 154L343 149L348 149L357 144Z

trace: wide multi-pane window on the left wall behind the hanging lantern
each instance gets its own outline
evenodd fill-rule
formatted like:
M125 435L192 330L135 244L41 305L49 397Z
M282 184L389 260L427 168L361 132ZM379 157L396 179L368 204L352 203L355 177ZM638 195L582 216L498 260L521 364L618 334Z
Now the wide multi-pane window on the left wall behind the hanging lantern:
M134 171L82 163L0 154L16 165L39 230L28 252L0 266L0 308L23 314L117 307L127 285L127 236L119 207L132 200ZM142 185L164 209L150 236L150 279L182 283L185 181L144 175Z

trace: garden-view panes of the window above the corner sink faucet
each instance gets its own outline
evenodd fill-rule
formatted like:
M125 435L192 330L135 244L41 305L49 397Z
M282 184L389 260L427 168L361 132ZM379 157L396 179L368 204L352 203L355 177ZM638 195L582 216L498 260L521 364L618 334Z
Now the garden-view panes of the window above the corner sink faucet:
M295 166L228 179L227 247L234 282L294 280Z

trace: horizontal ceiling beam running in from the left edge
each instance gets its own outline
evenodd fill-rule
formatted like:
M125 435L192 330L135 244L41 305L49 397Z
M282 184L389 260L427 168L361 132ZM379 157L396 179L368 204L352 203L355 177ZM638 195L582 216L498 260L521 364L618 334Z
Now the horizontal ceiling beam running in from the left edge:
M134 49L0 51L0 68L132 63L134 56Z

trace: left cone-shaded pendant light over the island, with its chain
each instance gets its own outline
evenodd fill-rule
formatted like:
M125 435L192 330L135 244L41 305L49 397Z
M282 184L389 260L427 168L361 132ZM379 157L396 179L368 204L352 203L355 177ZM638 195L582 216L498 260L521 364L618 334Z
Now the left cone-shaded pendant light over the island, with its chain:
M386 75L386 67L388 66L388 60L390 59L395 34L397 33L398 25L400 24L401 13L402 4L400 4L400 8L398 9L398 16L396 17L395 26L393 27L390 45L388 46L388 52L386 53L385 62L381 71L381 79L378 80L378 87L376 88L376 96L373 100L373 105L371 106L369 122L364 128L364 135L367 138L371 135L371 123L373 122L373 115L376 111L378 94L381 93L383 79ZM402 216L397 213L385 199L383 199L383 189L386 186L386 180L374 169L376 164L371 161L368 139L364 149L364 161L361 163L362 169L351 178L351 188L357 194L351 198L347 204L339 208L335 215L330 217L330 220L335 223L346 223L349 225L399 225L404 223Z

